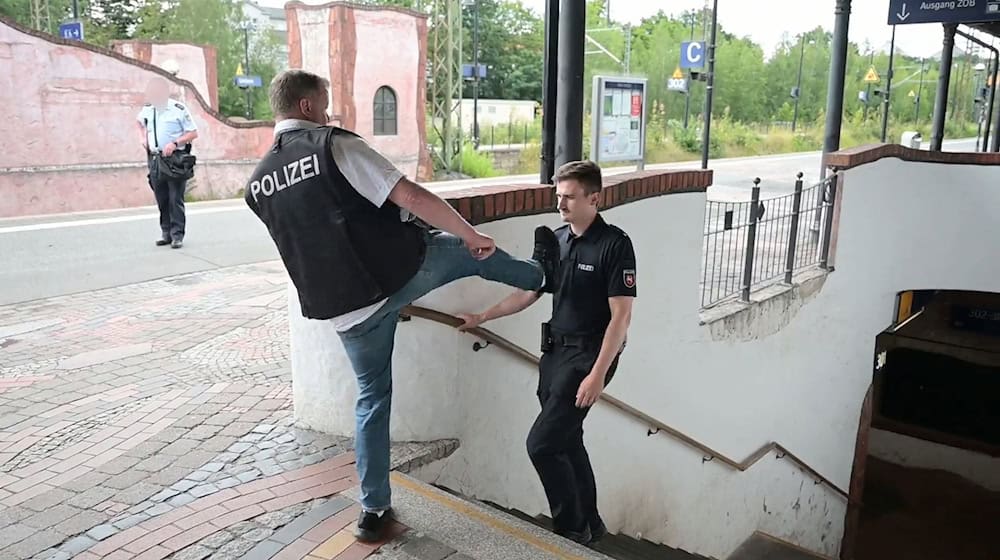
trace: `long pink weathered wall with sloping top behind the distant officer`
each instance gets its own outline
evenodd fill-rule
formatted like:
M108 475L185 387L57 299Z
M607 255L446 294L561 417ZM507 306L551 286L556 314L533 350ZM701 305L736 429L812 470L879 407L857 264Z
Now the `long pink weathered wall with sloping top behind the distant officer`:
M153 204L135 117L155 76L198 124L195 193L238 192L272 123L229 121L155 66L0 19L0 137L17 139L0 150L0 217Z

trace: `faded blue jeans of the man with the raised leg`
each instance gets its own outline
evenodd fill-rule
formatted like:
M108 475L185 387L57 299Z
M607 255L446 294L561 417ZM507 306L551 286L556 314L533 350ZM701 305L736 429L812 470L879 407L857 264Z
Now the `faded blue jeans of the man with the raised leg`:
M366 511L382 511L392 505L389 412L392 349L399 311L436 288L470 276L522 290L537 290L544 274L538 263L514 259L500 249L486 260L476 260L461 239L432 232L427 236L427 256L417 274L374 315L340 333L358 379L354 452L361 478L361 506Z

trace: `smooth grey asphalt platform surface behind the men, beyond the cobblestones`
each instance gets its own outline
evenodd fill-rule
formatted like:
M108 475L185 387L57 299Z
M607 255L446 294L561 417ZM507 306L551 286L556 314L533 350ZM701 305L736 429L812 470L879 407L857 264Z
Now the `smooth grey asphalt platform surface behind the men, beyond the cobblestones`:
M971 150L972 140L946 143ZM696 169L699 162L649 166ZM762 179L763 197L791 192L795 174L818 180L819 152L721 159L710 162L713 200L745 200ZM608 169L614 174L633 168ZM537 175L431 183L447 193L476 185L537 183ZM154 207L0 220L0 304L121 286L189 272L278 258L267 231L242 200L188 206L184 248L153 246L159 234Z

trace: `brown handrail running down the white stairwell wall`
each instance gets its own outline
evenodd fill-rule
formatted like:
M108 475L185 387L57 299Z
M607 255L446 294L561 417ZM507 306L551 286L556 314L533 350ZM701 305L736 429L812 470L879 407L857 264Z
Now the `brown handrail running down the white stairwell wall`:
M410 317L420 317L421 319L426 319L428 321L440 323L442 325L446 325L452 328L458 328L464 323L464 321L453 315L442 313L440 311L435 311L433 309L427 309L426 307L419 307L416 305L406 306L405 308L403 308L402 313ZM538 356L535 356L531 352L525 350L524 348L521 348L517 344L507 340L506 338L496 334L491 330L484 329L482 327L476 327L474 329L469 329L467 332L473 336L485 340L488 345L498 346L503 350L506 350L507 352L513 354L517 358L520 358L525 363L531 364L533 366L538 365L539 361ZM600 400L601 402L611 405L614 408L617 408L619 411L624 412L628 416L631 416L634 419L639 420L643 424L646 424L647 426L652 428L647 430L646 433L647 435L652 436L656 433L662 432L680 441L681 443L687 445L688 447L697 449L698 451L704 454L701 458L702 463L707 463L709 461L718 459L720 462L728 465L729 467L732 467L740 472L744 472L753 465L755 465L758 461L763 459L768 453L774 451L775 453L778 454L777 457L778 459L783 459L787 457L791 459L793 463L797 464L800 469L809 473L809 475L816 480L816 484L825 484L830 488L832 488L835 492L840 494L845 499L848 498L848 494L846 491L844 491L842 488L834 484L833 481L831 481L829 478L820 474L816 469L807 465L805 461L800 459L796 454L792 453L791 451L788 450L788 448L786 448L785 446L781 445L778 442L772 441L770 443L767 443L757 451L751 453L746 459L743 459L742 461L737 461L735 459L732 459L724 455L723 453L720 453L719 451L716 451L715 449L712 449L711 447L705 445L704 443L701 443L700 441L692 438L691 436L688 436L687 434L684 434L679 430L668 426L666 423L661 422L656 418L653 418L652 416L621 401L620 399L609 395L607 392L601 393Z

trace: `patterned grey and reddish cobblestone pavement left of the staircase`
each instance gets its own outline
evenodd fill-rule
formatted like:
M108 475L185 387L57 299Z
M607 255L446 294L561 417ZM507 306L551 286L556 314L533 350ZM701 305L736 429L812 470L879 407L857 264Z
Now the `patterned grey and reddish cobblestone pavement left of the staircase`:
M294 426L286 281L265 263L0 307L0 560L372 554L340 495L352 442Z

